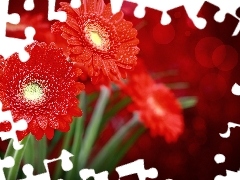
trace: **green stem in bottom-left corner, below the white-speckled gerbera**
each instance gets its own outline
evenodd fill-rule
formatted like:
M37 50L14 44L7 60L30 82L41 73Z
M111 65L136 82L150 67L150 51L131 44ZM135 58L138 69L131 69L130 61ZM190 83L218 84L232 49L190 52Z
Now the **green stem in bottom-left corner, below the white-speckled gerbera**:
M9 170L9 173L7 175L7 180L17 179L19 167L20 167L20 164L22 161L23 153L27 147L29 137L30 137L30 135L28 135L21 141L21 144L24 144L23 148L18 151L15 151L15 153L13 155L13 158L15 160L15 165Z

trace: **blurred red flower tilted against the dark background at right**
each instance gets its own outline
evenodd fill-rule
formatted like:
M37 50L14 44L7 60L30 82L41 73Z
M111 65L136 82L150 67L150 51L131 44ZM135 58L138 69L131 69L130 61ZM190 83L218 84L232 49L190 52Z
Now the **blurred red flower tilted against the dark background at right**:
M167 142L176 141L183 132L180 104L164 84L156 84L145 72L135 71L124 91L132 98L132 110L140 112L142 123L153 136L164 136Z

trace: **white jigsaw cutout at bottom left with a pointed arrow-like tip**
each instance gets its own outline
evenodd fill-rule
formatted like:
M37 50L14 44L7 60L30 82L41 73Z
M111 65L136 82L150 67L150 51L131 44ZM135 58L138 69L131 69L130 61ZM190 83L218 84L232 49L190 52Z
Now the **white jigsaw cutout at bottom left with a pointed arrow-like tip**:
M25 174L26 178L22 179L22 180L51 180L50 178L50 173L49 173L49 168L48 168L48 164L61 160L61 167L62 170L64 171L70 171L73 168L73 163L70 160L70 157L72 157L73 154L69 153L68 151L66 151L65 149L62 150L61 155L58 158L54 158L54 159L45 159L43 161L44 167L46 169L45 173L41 173L38 175L33 175L33 171L34 168L31 164L25 164L22 168L23 173Z

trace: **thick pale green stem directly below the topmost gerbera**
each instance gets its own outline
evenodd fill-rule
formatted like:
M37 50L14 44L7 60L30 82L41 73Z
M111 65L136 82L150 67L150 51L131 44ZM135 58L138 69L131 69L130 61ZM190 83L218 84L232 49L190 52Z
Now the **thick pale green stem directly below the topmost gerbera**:
M85 167L88 157L91 153L92 146L97 138L98 130L101 125L101 119L109 99L109 89L105 86L101 86L100 96L98 98L97 104L94 108L93 115L89 122L88 128L84 140L82 142L81 151L79 154L78 169Z

